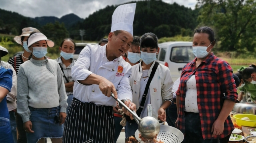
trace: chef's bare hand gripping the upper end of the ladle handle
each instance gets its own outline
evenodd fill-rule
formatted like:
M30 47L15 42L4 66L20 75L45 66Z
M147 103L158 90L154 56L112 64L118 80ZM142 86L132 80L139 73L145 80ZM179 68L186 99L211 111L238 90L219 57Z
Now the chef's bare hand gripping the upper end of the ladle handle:
M112 92L112 93L114 93L115 98L117 99L116 87L114 86L114 84L112 82L110 82L108 80L102 80L99 83L99 87L100 87L100 91L102 92L102 94L110 97L111 92Z

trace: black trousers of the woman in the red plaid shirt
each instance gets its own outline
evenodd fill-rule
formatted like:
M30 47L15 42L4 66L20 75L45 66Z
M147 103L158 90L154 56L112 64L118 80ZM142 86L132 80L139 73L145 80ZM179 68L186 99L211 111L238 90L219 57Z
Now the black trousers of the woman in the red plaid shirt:
M230 135L222 139L204 139L199 113L185 112L185 137L182 143L228 143Z

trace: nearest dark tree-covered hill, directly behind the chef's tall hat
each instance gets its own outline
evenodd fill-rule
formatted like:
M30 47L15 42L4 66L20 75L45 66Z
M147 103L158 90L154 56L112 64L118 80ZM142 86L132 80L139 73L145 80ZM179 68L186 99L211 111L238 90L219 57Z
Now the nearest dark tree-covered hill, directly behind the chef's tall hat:
M129 2L133 3L133 2ZM137 1L133 22L133 33L142 36L154 32L158 38L181 34L181 29L193 30L197 26L198 10L191 10L176 3L161 0ZM73 26L72 30L86 30L86 40L100 40L111 29L112 14L117 6L107 6L91 14L84 22ZM185 34L186 33L186 34ZM183 32L190 36L188 32Z

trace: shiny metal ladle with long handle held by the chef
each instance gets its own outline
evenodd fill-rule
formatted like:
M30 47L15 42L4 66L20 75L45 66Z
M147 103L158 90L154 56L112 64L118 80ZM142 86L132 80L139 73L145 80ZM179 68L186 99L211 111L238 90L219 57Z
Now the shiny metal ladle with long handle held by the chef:
M140 119L135 111L129 109L124 102L127 100L116 99L115 95L111 93L111 97L113 97L120 105L122 105L126 110L128 110L132 115L136 123L138 124L138 130L140 135L146 139L153 139L156 137L160 131L160 124L157 119L152 117L152 105L147 105L148 116Z

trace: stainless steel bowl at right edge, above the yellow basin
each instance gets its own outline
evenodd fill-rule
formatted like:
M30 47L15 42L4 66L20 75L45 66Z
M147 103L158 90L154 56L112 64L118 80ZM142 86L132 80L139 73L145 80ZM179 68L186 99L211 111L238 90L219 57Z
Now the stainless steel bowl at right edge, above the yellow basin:
M240 102L234 105L233 114L254 114L256 115L256 103Z

